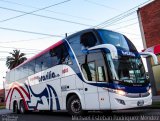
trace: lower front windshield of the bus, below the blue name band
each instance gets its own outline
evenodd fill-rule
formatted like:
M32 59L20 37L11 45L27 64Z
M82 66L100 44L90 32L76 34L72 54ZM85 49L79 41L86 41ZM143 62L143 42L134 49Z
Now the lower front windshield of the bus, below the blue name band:
M113 80L128 83L145 83L145 69L141 58L119 56L118 59L112 59L110 53L107 53L106 56Z

